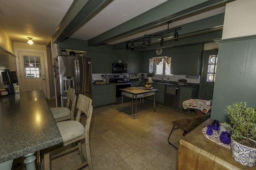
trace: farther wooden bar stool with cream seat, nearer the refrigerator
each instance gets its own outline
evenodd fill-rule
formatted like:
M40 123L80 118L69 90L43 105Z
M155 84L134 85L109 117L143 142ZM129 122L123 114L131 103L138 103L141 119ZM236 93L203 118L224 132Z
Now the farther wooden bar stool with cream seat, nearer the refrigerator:
M53 107L50 108L52 111L52 115L55 119L56 122L59 121L64 121L64 120L74 120L74 110L75 110L75 105L76 105L76 95L75 95L75 90L72 88L68 88L67 92L67 105L66 107ZM69 109L70 104L71 110Z

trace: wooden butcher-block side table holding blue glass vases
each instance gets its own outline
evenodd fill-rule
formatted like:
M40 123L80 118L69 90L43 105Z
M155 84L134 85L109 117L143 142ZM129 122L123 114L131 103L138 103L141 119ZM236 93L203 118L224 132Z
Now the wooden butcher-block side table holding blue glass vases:
M236 162L230 149L207 139L202 129L212 123L212 119L196 127L180 139L178 146L178 170L255 170Z

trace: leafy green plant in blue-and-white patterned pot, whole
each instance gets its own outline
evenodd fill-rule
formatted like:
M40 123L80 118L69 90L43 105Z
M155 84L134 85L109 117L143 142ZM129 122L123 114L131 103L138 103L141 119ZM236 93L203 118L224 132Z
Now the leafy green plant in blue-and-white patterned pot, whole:
M256 108L247 107L246 102L227 106L230 120L231 154L234 160L253 167L256 164Z

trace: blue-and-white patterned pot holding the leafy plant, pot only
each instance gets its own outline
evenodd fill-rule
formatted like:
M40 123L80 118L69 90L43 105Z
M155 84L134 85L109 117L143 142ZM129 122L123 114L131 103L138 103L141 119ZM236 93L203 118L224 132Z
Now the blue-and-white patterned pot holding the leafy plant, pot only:
M255 141L254 141L255 142ZM253 167L256 164L256 148L247 147L231 140L231 154L234 160L245 166Z

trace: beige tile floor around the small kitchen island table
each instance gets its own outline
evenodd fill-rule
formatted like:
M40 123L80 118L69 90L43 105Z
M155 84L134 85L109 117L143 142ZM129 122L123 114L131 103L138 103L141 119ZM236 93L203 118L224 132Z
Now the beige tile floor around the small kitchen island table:
M48 103L54 107L54 101L48 100ZM121 113L121 104L94 108L90 126L94 170L175 170L177 150L167 141L172 121L192 118L196 113L162 104L156 104L155 112L153 102L144 100L144 106L137 107L136 119L132 119L131 104L125 103ZM84 114L81 120L86 120ZM181 129L173 132L174 145L178 146L182 133ZM77 152L72 152L52 160L51 168L66 170L79 163ZM19 170L22 166L12 169Z

